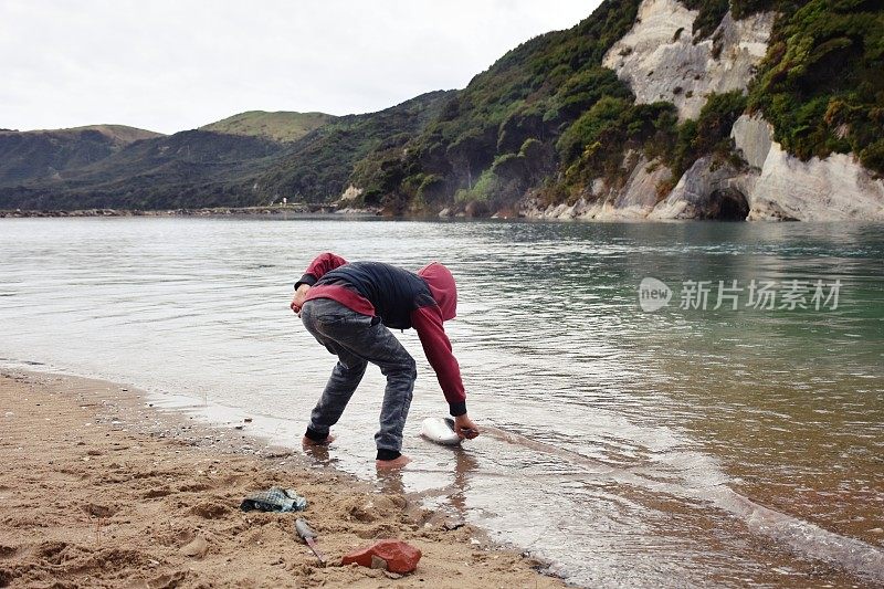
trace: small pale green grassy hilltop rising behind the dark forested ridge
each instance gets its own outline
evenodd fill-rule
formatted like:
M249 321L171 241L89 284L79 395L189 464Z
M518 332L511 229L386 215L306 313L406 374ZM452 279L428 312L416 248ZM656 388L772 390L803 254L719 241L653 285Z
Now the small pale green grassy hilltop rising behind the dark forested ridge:
M325 113L291 113L249 111L217 123L200 127L200 130L263 137L273 141L296 141L309 132L334 120L334 115Z

